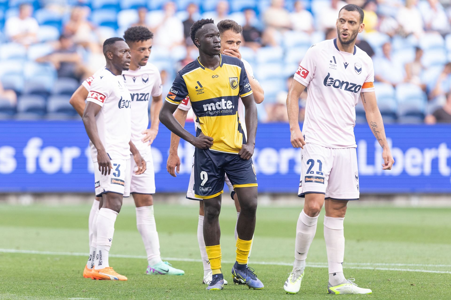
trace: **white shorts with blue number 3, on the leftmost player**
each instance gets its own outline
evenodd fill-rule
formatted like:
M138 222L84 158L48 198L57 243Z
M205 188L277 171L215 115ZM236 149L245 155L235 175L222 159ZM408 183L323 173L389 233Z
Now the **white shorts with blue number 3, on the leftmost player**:
M130 196L130 159L112 159L110 175L101 175L99 164L94 162L94 181L96 197L104 193L118 193Z

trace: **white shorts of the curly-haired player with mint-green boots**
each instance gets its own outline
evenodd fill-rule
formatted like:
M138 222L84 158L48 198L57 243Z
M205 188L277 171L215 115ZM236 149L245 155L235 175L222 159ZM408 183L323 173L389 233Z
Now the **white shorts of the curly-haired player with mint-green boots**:
M133 155L131 156L131 168L130 168L130 193L137 194L154 194L155 193L155 171L153 169L153 159L152 152L146 151L142 153L141 156L146 161L146 170L143 174L136 175L135 171L138 170L138 166L136 165L135 160L133 159Z

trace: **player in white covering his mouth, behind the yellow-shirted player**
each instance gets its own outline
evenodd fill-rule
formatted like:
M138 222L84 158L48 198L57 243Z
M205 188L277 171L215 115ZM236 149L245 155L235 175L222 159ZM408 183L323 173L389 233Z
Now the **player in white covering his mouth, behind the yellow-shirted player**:
M220 35L221 35L221 53L224 55L234 56L236 58L241 59L241 61L244 64L244 67L246 69L246 73L249 78L249 83L251 85L251 88L253 90L254 95L254 101L255 103L262 103L264 99L263 89L258 83L258 81L253 76L253 70L250 64L241 58L241 54L239 53L239 46L241 45L241 32L243 31L243 28L241 25L239 25L237 22L233 20L222 20L221 22L218 22L217 27L219 29ZM175 111L174 116L179 121L179 123L184 126L186 117L188 116L188 111L191 108L191 102L189 101L189 98L187 97L182 101L182 103L179 104L178 109ZM241 123L241 126L243 127L244 134L246 134L246 124L244 121L244 105L241 99L239 99L238 102L238 116ZM197 129L198 123L196 121L196 118L194 118L194 126ZM171 134L171 141L170 141L170 150L169 150L169 157L167 160L167 171L170 175L176 177L175 171L177 173L180 170L180 158L177 154L177 149L179 147L179 141L180 138L178 135L172 133ZM235 207L237 211L237 220L240 212L240 206L238 201L238 196L235 193L233 189L233 185L230 183L230 180L227 178L227 175L225 177L226 184L229 188L230 197L235 201ZM210 269L210 262L208 261L207 251L205 249L205 242L203 238L203 218L204 218L204 210L203 210L203 201L200 198L197 198L194 196L194 166L191 169L191 176L189 177L189 185L188 185L188 192L186 193L186 197L191 200L198 200L200 207L199 207L199 222L198 222L198 243L199 243L199 249L202 257L202 264L203 264L203 283L208 284L210 281L212 281L212 270ZM238 233L236 231L235 226L235 240L238 237ZM250 251L249 251L250 256ZM234 279L235 283L244 284L243 281L240 279L236 280ZM224 283L227 284L227 281L224 280Z

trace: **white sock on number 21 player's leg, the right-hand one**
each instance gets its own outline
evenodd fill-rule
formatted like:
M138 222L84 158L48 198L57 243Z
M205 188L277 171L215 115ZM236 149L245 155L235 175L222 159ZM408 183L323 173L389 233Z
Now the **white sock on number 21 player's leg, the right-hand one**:
M326 240L329 263L329 283L332 287L345 280L343 275L343 260L345 257L344 219L324 217L324 239Z

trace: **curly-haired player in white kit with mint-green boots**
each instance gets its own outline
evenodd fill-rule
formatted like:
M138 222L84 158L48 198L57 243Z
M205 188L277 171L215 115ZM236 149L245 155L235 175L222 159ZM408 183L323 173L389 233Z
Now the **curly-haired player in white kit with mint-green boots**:
M136 223L138 231L143 238L147 252L148 266L146 274L171 274L183 275L184 271L173 268L168 262L163 262L160 255L160 242L156 231L156 223L153 210L152 194L155 193L155 173L150 144L158 133L158 113L162 104L162 85L158 69L151 63L147 63L152 49L153 34L146 27L130 27L125 31L124 38L131 49L131 63L128 71L122 72L122 79L130 91L131 114L132 114L132 141L138 148L145 162L147 170L140 175L131 173L130 191L136 205ZM74 93L71 104L80 113L83 112L83 95L90 89L92 81L97 77L97 72L83 81L82 86ZM151 104L151 126L147 129L149 117L147 107L150 97ZM137 160L132 161L131 171L137 168ZM96 199L97 200L97 199ZM92 224L98 211L99 201L94 201L89 214L89 239L92 243ZM89 277L88 260L84 277Z

